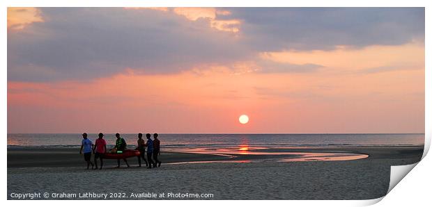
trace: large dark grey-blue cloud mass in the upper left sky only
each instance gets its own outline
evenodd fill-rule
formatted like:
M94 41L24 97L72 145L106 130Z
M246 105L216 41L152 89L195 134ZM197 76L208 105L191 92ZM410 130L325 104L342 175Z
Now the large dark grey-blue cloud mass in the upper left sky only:
M8 80L97 78L125 68L172 73L200 63L231 63L251 53L206 21L159 10L41 10L43 24L8 35Z

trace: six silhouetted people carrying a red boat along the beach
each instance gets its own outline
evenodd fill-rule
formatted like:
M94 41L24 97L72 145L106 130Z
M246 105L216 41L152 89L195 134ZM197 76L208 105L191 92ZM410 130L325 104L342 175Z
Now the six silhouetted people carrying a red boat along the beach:
M157 133L153 134L153 139L151 139L151 134L147 133L146 138L147 142L143 140L143 134L138 134L138 140L137 140L137 148L135 150L138 150L140 153L140 156L138 156L138 167L141 167L141 159L144 160L146 163L147 168L153 167L160 167L160 160L157 158L160 155L160 140L157 138ZM84 160L87 163L87 169L89 169L91 165L91 169L98 169L98 159L100 160L100 168L102 169L103 166L103 154L107 153L107 142L104 139L104 134L99 133L98 139L96 139L95 144L87 138L87 133L82 134L82 144L81 149L79 149L79 154L83 154L84 152ZM128 144L126 144L125 139L120 137L119 133L116 133L116 143L113 149L109 151L109 153L123 153L123 151L126 150L126 147ZM147 148L147 154L146 154L146 148ZM94 164L91 162L91 154L94 154ZM146 159L147 158L147 159ZM123 159L130 167L128 160L125 158ZM120 167L120 159L117 160L117 167Z

